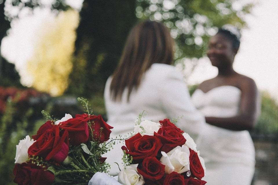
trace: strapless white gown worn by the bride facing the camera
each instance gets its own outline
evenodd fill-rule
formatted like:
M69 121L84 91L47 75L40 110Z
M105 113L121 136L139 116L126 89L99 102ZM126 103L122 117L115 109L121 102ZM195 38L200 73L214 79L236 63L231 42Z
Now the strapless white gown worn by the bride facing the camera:
M239 112L241 90L219 86L204 93L197 89L192 100L208 117L232 117ZM207 185L250 185L255 170L255 148L248 131L232 131L206 124L198 150L206 164Z

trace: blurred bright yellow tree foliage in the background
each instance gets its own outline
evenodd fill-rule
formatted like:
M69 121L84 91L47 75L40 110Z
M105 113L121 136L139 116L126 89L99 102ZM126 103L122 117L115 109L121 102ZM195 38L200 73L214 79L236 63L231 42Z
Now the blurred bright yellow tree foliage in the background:
M34 54L27 62L28 73L34 79L32 86L37 90L59 96L67 88L78 24L79 13L67 10L39 31Z

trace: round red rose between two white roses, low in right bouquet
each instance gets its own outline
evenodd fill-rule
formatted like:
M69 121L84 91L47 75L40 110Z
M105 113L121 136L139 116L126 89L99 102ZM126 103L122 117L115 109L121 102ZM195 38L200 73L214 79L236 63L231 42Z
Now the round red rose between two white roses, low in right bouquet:
M147 157L143 160L142 167L137 168L137 170L144 179L156 181L163 177L165 165L161 164L155 157Z

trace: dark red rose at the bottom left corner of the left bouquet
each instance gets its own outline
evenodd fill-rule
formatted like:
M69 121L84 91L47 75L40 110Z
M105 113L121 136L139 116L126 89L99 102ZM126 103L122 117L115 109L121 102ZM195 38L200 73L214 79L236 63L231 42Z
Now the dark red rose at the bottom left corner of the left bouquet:
M54 174L32 163L15 164L14 183L19 185L49 185L54 182Z

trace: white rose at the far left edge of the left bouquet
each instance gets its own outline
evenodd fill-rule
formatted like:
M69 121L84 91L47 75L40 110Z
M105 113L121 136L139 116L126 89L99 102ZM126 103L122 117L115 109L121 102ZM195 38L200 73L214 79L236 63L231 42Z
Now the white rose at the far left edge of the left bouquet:
M17 152L15 154L15 162L21 164L26 162L28 159L28 148L34 143L34 139L31 140L30 136L26 136L23 140L20 140L17 147Z

